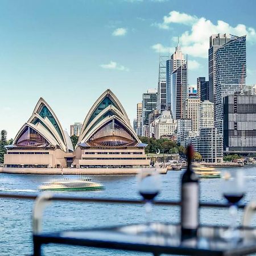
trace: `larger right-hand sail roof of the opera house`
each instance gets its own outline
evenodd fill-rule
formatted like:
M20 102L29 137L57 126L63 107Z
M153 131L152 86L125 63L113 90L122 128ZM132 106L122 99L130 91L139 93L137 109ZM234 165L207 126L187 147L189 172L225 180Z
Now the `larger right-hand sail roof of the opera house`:
M139 141L125 109L110 89L101 94L86 115L77 145L146 146Z

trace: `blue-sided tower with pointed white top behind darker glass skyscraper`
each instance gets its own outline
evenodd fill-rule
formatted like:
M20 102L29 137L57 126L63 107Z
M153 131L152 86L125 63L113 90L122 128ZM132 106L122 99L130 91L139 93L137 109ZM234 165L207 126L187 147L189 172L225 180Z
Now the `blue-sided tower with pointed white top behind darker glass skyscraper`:
M167 109L171 109L171 75L177 68L184 65L186 60L181 52L179 44L177 45L174 54L171 55L170 59L166 61L166 105Z

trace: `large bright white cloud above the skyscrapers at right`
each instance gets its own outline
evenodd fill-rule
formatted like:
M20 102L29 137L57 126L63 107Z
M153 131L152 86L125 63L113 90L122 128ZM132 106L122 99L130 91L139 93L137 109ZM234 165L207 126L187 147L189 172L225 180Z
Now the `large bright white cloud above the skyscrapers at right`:
M189 27L189 30L181 34L179 42L183 53L194 57L208 57L209 36L212 34L247 35L247 42L256 43L256 32L252 27L246 27L244 24L237 24L237 26L232 27L223 20L218 20L214 24L204 17L198 18L178 11L171 11L168 16L163 17L162 23L155 24L159 28L167 30L170 29L170 24L174 23ZM177 37L173 37L172 42L176 45Z

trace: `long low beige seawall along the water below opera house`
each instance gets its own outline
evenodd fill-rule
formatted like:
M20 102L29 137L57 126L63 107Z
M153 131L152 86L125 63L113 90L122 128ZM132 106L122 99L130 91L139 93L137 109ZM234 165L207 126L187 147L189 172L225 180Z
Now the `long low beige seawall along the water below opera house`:
M157 168L160 174L166 174L167 168ZM121 175L138 174L141 168L63 168L62 173L86 175ZM5 168L0 167L0 172L7 174L61 174L60 168Z

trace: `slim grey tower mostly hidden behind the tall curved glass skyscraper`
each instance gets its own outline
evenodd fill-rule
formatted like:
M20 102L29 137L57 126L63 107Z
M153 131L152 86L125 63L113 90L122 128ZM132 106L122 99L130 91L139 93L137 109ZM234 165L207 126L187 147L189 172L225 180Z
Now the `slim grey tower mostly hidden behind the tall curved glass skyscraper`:
M210 36L209 47L209 101L214 103L216 93L216 51L231 40L229 34L213 34Z

